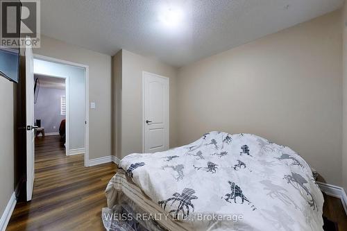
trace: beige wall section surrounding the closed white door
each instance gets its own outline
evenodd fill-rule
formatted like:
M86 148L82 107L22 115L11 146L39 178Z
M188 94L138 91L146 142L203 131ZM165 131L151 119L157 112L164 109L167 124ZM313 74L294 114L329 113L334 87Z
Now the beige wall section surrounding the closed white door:
M176 146L176 69L149 57L121 51L121 158L130 153L142 153L142 71L170 79L170 147Z

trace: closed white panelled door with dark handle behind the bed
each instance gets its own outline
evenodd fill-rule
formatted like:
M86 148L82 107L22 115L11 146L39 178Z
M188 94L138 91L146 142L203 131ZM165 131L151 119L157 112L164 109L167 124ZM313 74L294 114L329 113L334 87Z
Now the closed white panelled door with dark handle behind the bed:
M144 152L169 149L169 78L144 72Z

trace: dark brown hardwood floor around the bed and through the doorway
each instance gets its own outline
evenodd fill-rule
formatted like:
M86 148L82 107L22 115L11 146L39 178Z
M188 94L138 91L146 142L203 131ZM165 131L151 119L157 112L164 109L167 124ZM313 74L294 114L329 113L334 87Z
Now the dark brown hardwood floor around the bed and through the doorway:
M65 155L58 136L38 138L33 200L17 203L7 230L104 230L104 191L116 171L112 163L85 168L83 155ZM323 214L347 230L341 201L324 197Z

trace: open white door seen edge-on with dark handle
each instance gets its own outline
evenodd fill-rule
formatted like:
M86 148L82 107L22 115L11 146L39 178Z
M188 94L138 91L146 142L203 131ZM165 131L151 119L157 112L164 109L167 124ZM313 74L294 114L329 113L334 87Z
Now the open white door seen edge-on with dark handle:
M26 38L30 40L30 38ZM30 42L26 42L30 44ZM34 152L35 152L35 127L34 127L34 64L33 49L26 46L26 200L31 200L34 186Z

